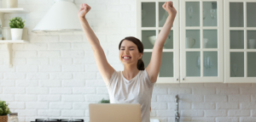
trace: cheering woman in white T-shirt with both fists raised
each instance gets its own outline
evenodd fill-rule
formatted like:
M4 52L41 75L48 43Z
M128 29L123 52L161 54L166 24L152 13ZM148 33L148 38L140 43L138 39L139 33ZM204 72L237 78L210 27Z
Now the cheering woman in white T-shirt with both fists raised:
M141 41L130 36L125 37L119 43L119 59L124 64L124 71L115 71L108 64L98 38L85 19L85 15L90 11L90 6L85 3L81 4L78 13L85 36L90 42L96 58L96 65L108 87L110 103L140 103L142 122L149 122L150 119L153 86L160 71L164 43L177 14L171 1L164 3L162 8L167 11L169 16L154 43L152 57L146 69L144 69L142 60L143 43Z

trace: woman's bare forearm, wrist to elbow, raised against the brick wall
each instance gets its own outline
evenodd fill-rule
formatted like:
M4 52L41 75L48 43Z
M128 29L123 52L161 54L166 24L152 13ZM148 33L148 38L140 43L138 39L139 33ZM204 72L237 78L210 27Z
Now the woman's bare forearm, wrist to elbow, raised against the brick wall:
M90 25L89 25L87 19L79 18L79 20L82 25L86 39L90 43L90 46L92 47L92 49L95 50L97 47L101 47L99 39L96 37L94 31L92 31L92 29L90 28Z

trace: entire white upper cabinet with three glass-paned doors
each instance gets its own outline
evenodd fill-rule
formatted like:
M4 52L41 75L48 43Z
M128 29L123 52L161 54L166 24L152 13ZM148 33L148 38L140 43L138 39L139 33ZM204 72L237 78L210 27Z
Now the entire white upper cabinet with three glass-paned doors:
M137 37L148 65L166 22L165 1L137 0ZM174 0L177 16L157 83L256 82L255 0Z

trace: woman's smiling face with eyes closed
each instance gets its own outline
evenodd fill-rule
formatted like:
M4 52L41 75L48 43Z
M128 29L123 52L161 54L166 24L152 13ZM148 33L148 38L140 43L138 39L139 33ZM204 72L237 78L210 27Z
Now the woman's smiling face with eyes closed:
M137 45L131 41L123 41L119 50L119 59L123 64L137 64L137 60L143 57L139 53Z

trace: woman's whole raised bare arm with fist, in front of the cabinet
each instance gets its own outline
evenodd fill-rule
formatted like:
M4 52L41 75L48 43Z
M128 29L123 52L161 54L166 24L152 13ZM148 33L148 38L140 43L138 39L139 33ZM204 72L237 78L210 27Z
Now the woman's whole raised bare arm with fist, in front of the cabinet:
M146 68L152 83L157 80L157 76L159 74L160 65L162 61L163 47L166 42L166 38L169 35L169 32L171 31L173 21L177 14L177 11L173 7L171 1L163 4L162 7L168 12L169 16L167 17L166 23L161 29L160 34L157 36L156 41L154 42L152 56L148 64L148 67Z

